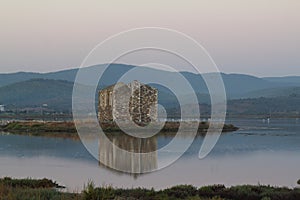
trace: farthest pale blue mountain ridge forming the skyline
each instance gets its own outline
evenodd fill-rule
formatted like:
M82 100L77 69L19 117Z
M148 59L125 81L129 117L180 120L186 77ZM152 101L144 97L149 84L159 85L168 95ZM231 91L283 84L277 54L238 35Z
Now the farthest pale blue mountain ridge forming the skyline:
M103 68L104 65L87 67L81 69L84 72L90 72L91 74L96 74L99 69ZM124 64L112 64L105 72L104 76L100 80L100 85L112 85L118 81L118 79L129 70L135 68L136 66L124 65ZM175 73L170 71L162 71L158 69L143 68L149 74L157 76L163 79L174 79ZM0 74L0 87L10 85L13 83L27 81L30 79L52 79L52 80L65 80L69 82L74 82L78 69L63 70L51 73L31 73L31 72L19 72L12 74ZM205 81L202 76L211 78L214 77L214 73L194 74L190 72L181 72L181 74L189 80L191 86L198 94L208 94L208 89L206 87ZM245 75L245 74L221 74L226 93L229 99L243 98L245 95L249 97L249 93L274 89L274 88L289 88L289 87L300 87L300 77L271 77L271 78L258 78L255 76ZM89 77L87 77L89 79ZM184 95L184 89L180 88ZM276 96L276 95L275 95Z

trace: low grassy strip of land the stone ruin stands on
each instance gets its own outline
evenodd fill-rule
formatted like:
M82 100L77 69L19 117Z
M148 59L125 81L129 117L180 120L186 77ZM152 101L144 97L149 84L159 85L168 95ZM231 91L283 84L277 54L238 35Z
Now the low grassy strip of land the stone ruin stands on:
M185 127L184 129L186 131L188 131L191 125L195 125L193 123L196 122L166 122L160 134L174 135L178 131L179 126L181 125ZM101 127L106 133L122 132L115 123L101 123ZM89 127L89 125L87 124L86 127L83 128L88 128L92 132L94 127ZM199 123L198 134L205 135L208 128L209 123ZM236 130L238 130L238 128L232 124L225 124L223 128L223 132L230 132ZM75 124L73 122L16 121L0 126L0 131L20 135L79 139L77 130L75 128Z

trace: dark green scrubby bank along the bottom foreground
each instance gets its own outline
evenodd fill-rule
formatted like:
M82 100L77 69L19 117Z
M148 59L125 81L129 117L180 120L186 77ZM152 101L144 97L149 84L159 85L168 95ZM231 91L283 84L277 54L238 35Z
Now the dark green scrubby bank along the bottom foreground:
M196 188L179 185L156 191L154 189L97 188L87 184L81 193L60 192L55 182L48 179L0 179L0 199L10 200L106 200L106 199L189 199L189 200L298 200L300 189L285 187L242 185L226 188L212 185Z

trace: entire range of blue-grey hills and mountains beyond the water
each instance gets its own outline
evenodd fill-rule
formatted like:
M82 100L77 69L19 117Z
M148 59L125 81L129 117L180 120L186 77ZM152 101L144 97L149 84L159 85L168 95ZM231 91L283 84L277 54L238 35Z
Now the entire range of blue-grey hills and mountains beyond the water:
M118 79L135 66L113 64L104 72L104 76L99 81L98 88L114 84ZM97 74L103 70L103 65L93 66L83 69L87 73L86 80L90 75ZM174 72L162 71L146 67L139 67L141 79L156 77L176 83ZM64 70L52 73L12 73L0 74L0 104L14 106L18 108L40 107L47 104L49 109L56 111L70 112L72 109L72 90L78 69ZM209 111L210 96L205 85L205 78L214 79L216 74L207 73L202 76L190 72L181 72L189 80L195 90L202 110ZM128 77L128 81L136 77ZM272 77L258 78L243 74L222 74L228 101L228 111L230 113L266 113L268 110L274 112L299 112L300 83L299 77ZM159 90L159 104L173 112L178 108L176 96L170 89L151 84ZM176 85L176 84L175 84ZM88 86L85 86L88 87ZM179 95L184 103L189 102L190 91L181 85L176 85ZM97 97L96 97L97 98ZM96 99L97 102L97 99ZM192 108L193 106L189 106ZM189 110L189 109L187 109Z

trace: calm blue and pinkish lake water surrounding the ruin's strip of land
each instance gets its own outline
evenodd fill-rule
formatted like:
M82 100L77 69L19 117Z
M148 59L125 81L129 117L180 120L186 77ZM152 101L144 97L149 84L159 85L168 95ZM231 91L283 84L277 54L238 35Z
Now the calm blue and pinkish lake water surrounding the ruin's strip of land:
M178 184L297 185L300 179L300 120L271 119L268 123L262 119L229 119L227 123L234 124L240 130L223 134L206 158L198 158L203 138L197 137L188 151L171 166L140 175L122 173L99 165L77 140L2 133L0 176L46 177L75 192L80 192L89 180L97 186L155 189ZM149 148L149 151L161 148L171 139L159 136L155 141L147 143L145 148ZM180 140L179 145L186 138ZM128 141L123 143L119 142L119 145L126 146ZM105 149L99 152L101 156L107 156ZM110 158L106 159L111 163ZM145 162L148 168L155 169L157 163L164 159L168 158L158 155Z

